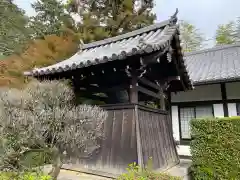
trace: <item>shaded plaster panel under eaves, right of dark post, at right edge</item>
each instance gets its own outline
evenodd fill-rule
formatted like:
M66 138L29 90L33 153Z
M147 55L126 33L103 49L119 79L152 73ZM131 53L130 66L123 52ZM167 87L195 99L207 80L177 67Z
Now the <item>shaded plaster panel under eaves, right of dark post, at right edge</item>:
M227 99L240 99L240 82L226 83Z

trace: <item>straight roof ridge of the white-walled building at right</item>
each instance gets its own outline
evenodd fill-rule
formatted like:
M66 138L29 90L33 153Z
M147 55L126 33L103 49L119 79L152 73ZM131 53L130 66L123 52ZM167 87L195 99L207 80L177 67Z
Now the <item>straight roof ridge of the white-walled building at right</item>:
M214 52L214 51L229 49L229 48L233 48L233 47L240 47L240 43L223 45L223 46L215 46L215 47L208 48L208 49L198 50L198 51L194 51L194 52L187 52L187 53L184 53L184 56L186 57L186 56L192 56L192 55L197 55L197 54L202 54L202 53L207 53L207 52Z

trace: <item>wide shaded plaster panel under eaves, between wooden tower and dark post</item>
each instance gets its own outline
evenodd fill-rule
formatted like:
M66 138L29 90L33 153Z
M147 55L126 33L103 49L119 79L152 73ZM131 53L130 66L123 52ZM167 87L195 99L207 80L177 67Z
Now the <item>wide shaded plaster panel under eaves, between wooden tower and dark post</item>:
M221 100L220 84L196 86L194 90L172 93L172 102Z

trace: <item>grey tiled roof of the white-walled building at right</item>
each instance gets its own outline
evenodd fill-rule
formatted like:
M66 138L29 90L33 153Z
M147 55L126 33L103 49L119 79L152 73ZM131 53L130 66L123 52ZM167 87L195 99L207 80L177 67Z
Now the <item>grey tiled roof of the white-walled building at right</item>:
M184 59L195 85L240 80L240 44L186 53Z

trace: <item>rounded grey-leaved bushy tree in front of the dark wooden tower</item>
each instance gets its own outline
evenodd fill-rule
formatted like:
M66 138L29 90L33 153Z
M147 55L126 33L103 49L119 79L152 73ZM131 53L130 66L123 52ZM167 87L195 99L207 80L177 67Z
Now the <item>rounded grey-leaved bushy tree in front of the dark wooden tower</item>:
M89 156L99 148L107 113L98 107L74 106L73 97L71 88L58 81L32 82L23 90L0 93L2 158L15 160L8 168L24 170L18 159L29 152L48 151L55 180L65 154Z

